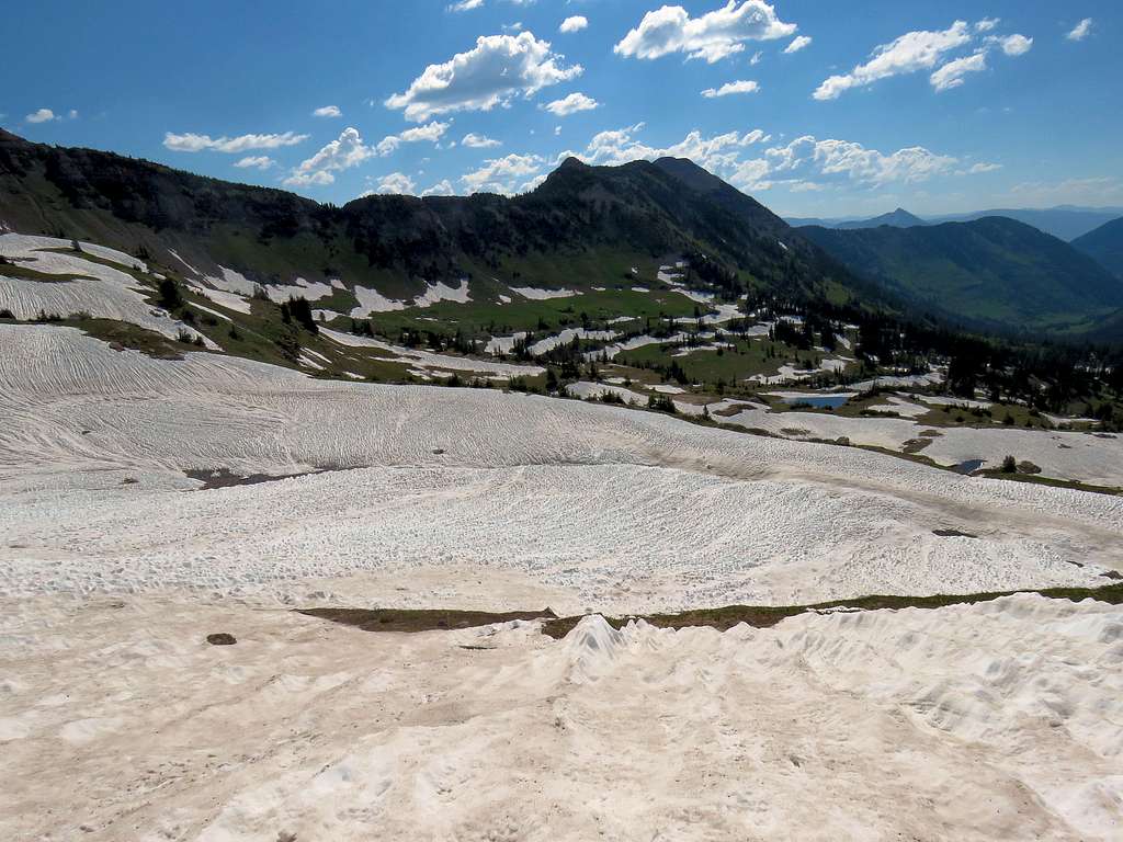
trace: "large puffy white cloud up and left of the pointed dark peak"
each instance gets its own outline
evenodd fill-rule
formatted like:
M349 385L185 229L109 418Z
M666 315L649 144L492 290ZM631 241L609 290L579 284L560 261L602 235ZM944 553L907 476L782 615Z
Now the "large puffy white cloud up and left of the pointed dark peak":
M583 70L579 64L564 66L564 56L530 31L481 36L468 52L430 64L385 106L404 110L405 119L417 122L450 111L489 111L517 95L532 97L576 79Z

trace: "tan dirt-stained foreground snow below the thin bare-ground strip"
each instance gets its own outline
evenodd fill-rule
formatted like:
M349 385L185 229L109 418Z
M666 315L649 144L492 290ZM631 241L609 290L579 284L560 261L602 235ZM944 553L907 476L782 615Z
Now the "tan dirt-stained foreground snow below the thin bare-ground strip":
M550 641L37 597L0 635L4 839L1119 839L1123 610L1090 601Z

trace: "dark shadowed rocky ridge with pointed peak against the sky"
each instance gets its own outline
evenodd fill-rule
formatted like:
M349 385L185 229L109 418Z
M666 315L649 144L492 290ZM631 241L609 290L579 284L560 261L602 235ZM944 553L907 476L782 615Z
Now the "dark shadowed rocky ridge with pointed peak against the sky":
M710 183L684 189L683 179ZM339 277L393 298L465 276L620 286L631 266L651 280L672 256L691 258L693 283L729 295L853 303L862 289L778 217L688 162L676 172L665 163L569 159L521 196L378 195L338 208L0 132L0 221L183 266L174 250L204 274L225 266L262 283Z

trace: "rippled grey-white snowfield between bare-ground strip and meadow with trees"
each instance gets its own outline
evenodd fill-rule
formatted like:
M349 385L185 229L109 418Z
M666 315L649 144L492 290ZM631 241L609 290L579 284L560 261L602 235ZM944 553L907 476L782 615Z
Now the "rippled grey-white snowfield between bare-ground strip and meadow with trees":
M634 611L1102 584L1123 566L1120 497L578 401L155 360L72 329L0 326L0 414L3 593L284 597L456 565ZM184 493L182 472L220 468L327 473Z

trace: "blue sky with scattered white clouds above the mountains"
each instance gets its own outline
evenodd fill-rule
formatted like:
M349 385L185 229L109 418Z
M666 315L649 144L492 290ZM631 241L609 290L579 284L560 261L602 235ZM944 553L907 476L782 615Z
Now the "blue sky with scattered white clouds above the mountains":
M336 203L675 154L785 214L1120 205L1121 30L1115 0L37 0L0 125Z

